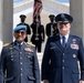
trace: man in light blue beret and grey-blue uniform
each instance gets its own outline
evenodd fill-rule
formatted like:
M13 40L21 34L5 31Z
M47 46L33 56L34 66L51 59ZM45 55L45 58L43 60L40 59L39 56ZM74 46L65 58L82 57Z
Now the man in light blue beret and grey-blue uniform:
M14 29L15 41L7 43L1 52L0 83L40 83L35 46L25 43L27 25Z

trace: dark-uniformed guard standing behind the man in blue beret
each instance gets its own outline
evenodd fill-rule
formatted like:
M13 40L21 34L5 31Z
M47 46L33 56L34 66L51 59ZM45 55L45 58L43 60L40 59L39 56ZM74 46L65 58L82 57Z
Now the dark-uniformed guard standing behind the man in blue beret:
M25 18L27 18L27 15L21 14L21 15L20 15L21 23L17 24L17 25L27 25L27 34L31 34L31 29L30 29L29 24L25 23ZM27 35L27 38L24 39L24 41L28 42L28 35Z

